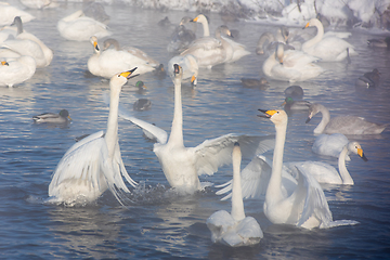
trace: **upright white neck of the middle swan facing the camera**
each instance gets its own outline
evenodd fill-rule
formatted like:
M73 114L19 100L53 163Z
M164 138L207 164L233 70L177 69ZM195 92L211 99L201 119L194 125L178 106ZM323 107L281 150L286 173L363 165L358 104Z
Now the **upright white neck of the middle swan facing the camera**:
M176 143L184 145L183 141L183 108L182 108L182 96L181 96L181 79L174 78L174 108L173 108L173 120L172 129L169 136L169 143Z

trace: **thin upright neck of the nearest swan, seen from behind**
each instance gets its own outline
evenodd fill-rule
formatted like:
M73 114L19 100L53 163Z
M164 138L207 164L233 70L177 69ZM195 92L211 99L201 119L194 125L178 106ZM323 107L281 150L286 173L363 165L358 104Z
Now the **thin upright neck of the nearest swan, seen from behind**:
M234 153L234 152L233 152ZM233 156L235 156L233 154ZM232 218L235 221L245 219L243 191L240 183L240 159L233 157Z

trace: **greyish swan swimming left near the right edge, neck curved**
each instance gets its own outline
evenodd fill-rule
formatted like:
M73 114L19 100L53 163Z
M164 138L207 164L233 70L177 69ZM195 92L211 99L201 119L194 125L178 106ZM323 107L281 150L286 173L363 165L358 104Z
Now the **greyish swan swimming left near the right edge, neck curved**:
M309 108L309 122L317 113L322 114L318 126L314 133L343 133L343 134L379 134L387 125L378 125L366 121L363 117L338 116L330 118L329 110L322 104L312 103Z

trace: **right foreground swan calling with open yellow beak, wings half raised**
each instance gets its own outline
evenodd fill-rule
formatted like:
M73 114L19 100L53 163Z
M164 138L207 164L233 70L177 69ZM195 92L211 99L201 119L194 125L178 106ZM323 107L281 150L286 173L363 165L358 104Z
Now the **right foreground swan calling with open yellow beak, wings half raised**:
M276 129L272 174L268 183L263 206L265 217L274 224L292 224L306 229L332 227L356 224L355 221L333 221L332 212L318 182L301 167L297 167L298 184L287 196L282 192L282 168L287 131L287 114L284 110L261 110Z

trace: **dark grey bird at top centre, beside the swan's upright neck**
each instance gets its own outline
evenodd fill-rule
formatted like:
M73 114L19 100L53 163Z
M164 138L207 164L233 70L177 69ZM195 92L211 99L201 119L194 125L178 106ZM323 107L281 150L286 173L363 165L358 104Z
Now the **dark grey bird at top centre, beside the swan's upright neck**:
M193 29L187 29L185 24L192 22L192 18L184 16L179 26L174 29L171 35L171 40L167 46L167 51L170 53L181 53L187 49L191 43L196 39L196 24Z

